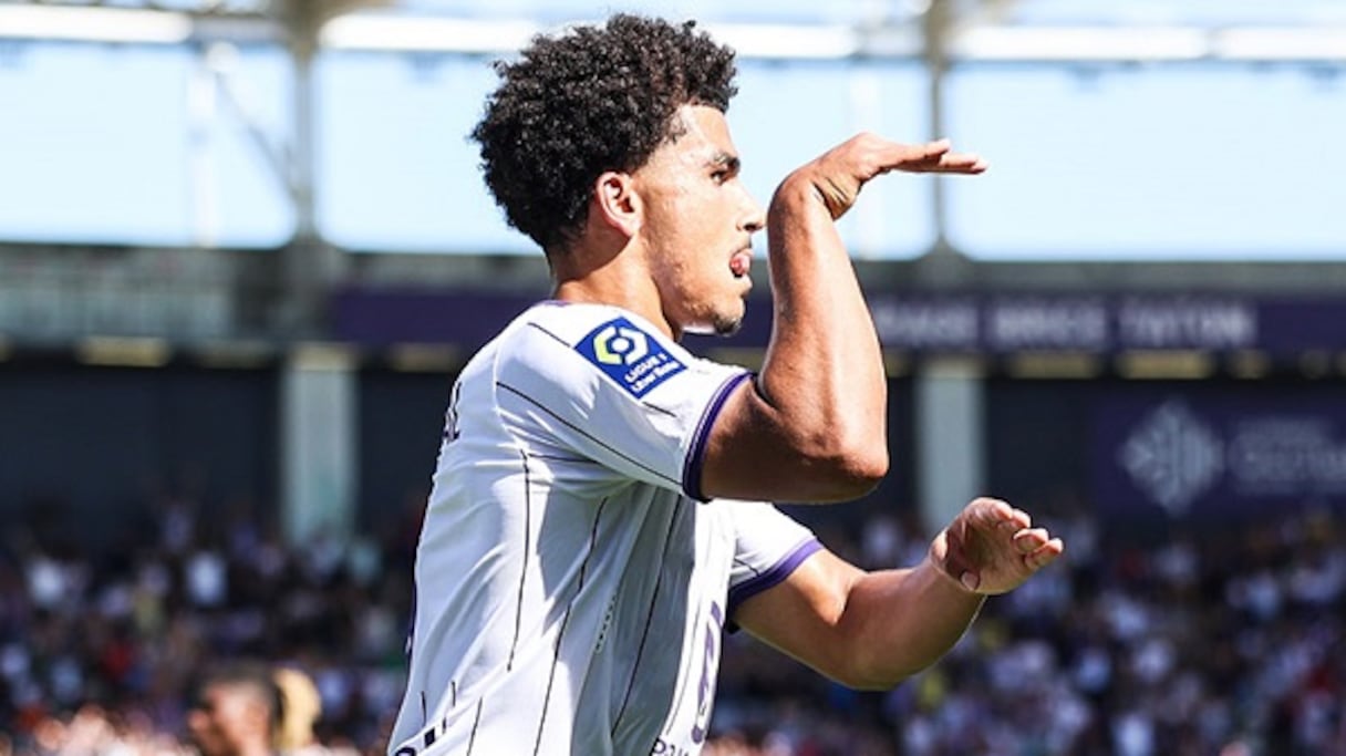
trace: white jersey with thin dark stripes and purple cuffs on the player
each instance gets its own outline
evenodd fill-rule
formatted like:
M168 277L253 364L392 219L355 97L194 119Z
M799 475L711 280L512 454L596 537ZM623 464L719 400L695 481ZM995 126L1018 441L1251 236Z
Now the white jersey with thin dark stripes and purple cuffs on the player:
M771 504L699 491L750 378L594 304L534 305L468 362L390 755L700 752L727 617L820 549Z

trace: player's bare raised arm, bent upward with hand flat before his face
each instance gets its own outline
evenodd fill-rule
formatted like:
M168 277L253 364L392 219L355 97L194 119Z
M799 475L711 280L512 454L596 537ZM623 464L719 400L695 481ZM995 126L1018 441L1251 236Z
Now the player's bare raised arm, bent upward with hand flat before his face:
M882 174L984 169L948 141L860 135L781 183L767 211L771 342L756 381L730 395L711 432L707 495L847 500L887 474L883 358L835 222Z

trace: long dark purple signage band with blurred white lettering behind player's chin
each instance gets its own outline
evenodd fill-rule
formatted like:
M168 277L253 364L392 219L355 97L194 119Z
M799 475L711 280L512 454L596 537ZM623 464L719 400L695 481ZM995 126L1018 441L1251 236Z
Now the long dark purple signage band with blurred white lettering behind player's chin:
M336 336L357 343L439 342L475 348L541 297L483 292L347 289L334 300ZM913 352L1015 354L1128 350L1257 350L1295 356L1346 351L1346 297L1226 295L917 295L870 297L879 340ZM730 346L765 347L771 304L748 303ZM689 346L720 344L693 339Z

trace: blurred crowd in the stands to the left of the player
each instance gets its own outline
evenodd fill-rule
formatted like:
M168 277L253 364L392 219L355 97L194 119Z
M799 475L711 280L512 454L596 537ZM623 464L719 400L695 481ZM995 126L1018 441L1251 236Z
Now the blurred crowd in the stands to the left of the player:
M192 752L202 677L234 662L311 682L308 745L381 751L405 678L419 510L382 537L287 546L262 525L273 515L225 508L163 498L97 550L48 522L70 517L5 529L0 756Z

